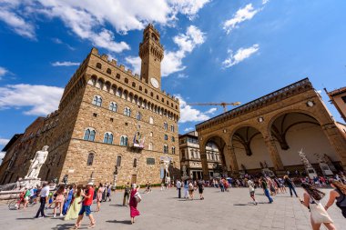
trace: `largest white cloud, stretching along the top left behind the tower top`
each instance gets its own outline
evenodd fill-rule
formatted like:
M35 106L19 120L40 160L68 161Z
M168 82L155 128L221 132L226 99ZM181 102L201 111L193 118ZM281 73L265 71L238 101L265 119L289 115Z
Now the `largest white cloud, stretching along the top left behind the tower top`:
M130 49L125 42L117 42L111 25L117 33L143 29L148 22L171 25L177 15L194 17L209 0L2 0L0 20L15 33L35 39L35 23L44 15L58 18L75 35L87 39L100 48L111 52ZM35 16L33 16L35 15Z

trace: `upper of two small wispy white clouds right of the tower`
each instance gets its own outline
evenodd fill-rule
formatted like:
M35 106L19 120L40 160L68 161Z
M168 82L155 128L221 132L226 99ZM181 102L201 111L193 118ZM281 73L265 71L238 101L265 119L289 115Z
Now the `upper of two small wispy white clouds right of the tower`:
M223 29L229 34L239 23L250 20L259 11L260 9L254 9L252 4L248 4L244 8L240 8L232 18L227 20L223 24Z

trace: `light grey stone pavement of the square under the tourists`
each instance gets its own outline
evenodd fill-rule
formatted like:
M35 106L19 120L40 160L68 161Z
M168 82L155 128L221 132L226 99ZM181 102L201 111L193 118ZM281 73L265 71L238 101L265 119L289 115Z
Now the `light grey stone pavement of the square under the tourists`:
M324 190L327 196L329 191ZM298 188L298 193L302 196L302 189ZM141 215L134 225L130 225L129 208L120 205L122 195L122 192L117 192L111 202L101 204L101 211L94 213L97 220L95 229L310 229L308 209L289 194L276 195L274 203L267 204L268 199L261 189L257 189L256 196L261 204L252 205L248 188L232 188L229 193L206 188L205 200L193 201L178 199L174 188L166 191L153 189L152 193L142 195L143 200L138 205ZM322 203L326 203L326 198ZM35 205L25 211L10 211L6 205L0 205L1 230L68 229L75 223L62 218L33 219L37 208L38 205ZM95 206L92 209L95 210ZM50 215L53 210L46 213ZM329 213L337 229L345 229L346 220L335 205ZM86 229L87 225L88 219L85 217L81 229Z

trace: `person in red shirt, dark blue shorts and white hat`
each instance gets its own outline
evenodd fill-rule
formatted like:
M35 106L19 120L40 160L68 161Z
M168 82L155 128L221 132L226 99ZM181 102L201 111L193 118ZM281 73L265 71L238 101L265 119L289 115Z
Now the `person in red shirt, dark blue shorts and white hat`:
M94 219L94 216L91 214L91 205L93 205L93 197L94 197L94 188L93 183L89 182L86 185L86 191L82 192L82 196L84 197L82 202L82 208L80 209L80 212L78 214L78 218L76 220L76 225L72 229L78 229L80 227L81 222L83 220L83 215L86 213L86 216L90 219L90 225L88 225L87 228L94 228L96 221ZM81 203L79 202L79 203Z

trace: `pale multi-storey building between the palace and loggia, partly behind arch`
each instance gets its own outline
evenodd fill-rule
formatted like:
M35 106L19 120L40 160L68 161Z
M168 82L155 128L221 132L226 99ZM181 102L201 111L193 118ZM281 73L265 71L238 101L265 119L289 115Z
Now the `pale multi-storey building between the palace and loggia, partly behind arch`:
M185 135L179 135L180 166L185 165L186 172L193 179L203 177L202 163L200 159L198 133L189 132ZM208 162L209 176L219 176L222 173L221 158L218 147L210 142L206 145L206 155Z

